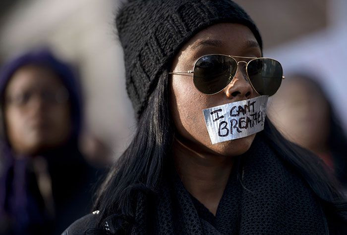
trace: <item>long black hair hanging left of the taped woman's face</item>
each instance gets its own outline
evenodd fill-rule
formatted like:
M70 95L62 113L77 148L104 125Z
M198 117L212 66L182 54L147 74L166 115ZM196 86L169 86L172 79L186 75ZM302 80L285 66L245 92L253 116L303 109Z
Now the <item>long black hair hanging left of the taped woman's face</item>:
M160 183L174 137L168 77L167 72L162 74L138 120L134 139L99 189L95 209L100 211L100 223L115 213L134 217L132 206L137 191L154 192Z

